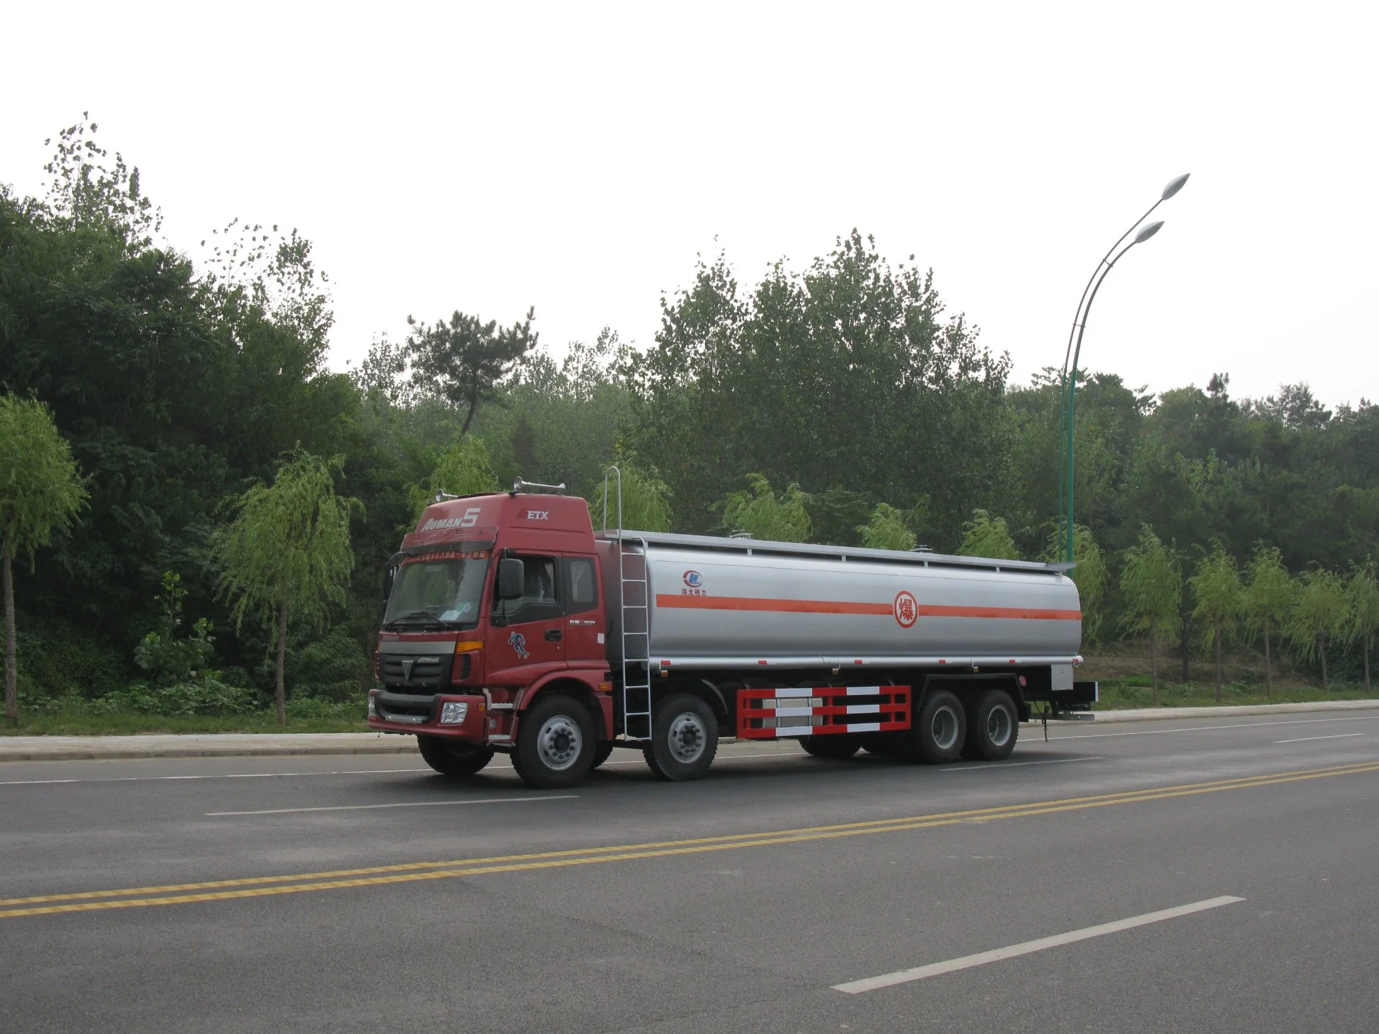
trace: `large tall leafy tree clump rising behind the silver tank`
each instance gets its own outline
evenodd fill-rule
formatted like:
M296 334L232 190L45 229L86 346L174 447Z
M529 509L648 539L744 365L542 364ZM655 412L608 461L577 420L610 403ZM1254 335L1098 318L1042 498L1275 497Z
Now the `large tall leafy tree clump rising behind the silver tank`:
M685 531L714 527L716 503L758 472L902 509L924 485L925 534L956 543L964 516L1009 487L1008 371L945 314L931 274L854 232L803 273L778 263L745 291L720 258L662 299L655 346L627 363L629 444L663 473Z

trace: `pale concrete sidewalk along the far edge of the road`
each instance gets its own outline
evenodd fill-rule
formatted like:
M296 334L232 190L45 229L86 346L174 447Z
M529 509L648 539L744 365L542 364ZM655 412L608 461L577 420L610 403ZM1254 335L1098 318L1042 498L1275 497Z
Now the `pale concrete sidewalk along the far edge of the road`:
M1095 724L1361 710L1379 710L1379 700L1322 700L1318 703L1267 703L1223 707L1135 707L1117 711L1096 711ZM1037 724L1029 722L1029 725ZM1049 724L1071 725L1073 722ZM1091 725L1094 722L1087 724ZM416 753L416 740L411 736L385 736L376 732L230 732L196 736L0 736L0 761L414 753Z

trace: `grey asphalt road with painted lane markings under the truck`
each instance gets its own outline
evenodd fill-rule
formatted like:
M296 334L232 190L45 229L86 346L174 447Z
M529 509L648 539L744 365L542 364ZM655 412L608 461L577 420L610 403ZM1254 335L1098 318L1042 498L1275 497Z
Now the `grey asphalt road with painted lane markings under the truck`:
M0 815L4 1031L1379 1028L1379 711L570 791L11 762Z

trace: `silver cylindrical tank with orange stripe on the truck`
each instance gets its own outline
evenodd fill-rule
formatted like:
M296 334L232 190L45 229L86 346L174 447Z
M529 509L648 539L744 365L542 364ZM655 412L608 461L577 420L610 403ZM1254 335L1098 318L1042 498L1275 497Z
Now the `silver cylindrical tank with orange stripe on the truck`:
M1051 565L632 531L622 542L621 578L616 540L600 543L612 660L623 614L627 658L654 667L1052 663L1081 645L1077 587Z

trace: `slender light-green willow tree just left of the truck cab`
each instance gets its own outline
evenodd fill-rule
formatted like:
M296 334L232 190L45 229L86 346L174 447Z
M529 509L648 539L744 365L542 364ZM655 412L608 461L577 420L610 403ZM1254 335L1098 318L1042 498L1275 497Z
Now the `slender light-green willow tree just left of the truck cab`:
M222 574L218 594L234 601L236 631L245 615L276 622L277 722L287 724L283 666L288 618L324 627L332 605L343 605L354 556L349 543L359 500L335 495L345 458L294 451L284 456L272 487L259 483L233 499L234 520L212 536Z

